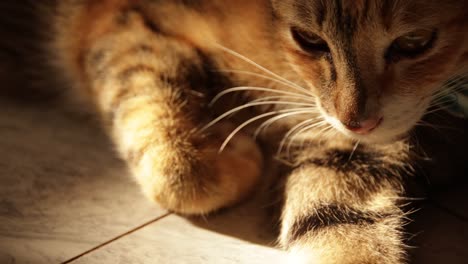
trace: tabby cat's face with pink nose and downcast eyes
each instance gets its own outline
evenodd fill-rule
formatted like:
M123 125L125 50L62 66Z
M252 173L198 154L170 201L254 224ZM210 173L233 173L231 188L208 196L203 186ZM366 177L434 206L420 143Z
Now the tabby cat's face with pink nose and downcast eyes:
M412 129L468 66L468 1L273 0L293 67L336 129L366 142Z

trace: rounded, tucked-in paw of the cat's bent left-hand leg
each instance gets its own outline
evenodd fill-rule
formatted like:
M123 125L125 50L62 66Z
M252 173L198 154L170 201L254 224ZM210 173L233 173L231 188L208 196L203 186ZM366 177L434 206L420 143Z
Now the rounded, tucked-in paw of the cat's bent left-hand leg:
M255 141L242 133L219 153L232 129L226 123L212 128L206 138L148 145L133 164L143 192L183 214L205 214L245 198L260 178L262 155Z

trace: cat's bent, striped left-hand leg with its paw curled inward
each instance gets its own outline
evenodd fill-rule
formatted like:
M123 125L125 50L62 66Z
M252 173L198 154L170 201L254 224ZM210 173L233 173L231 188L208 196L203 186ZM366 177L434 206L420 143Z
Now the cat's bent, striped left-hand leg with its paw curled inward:
M233 129L226 123L201 131L209 121L202 56L136 12L121 16L84 51L84 79L143 192L184 214L238 202L259 179L262 157L245 135L218 154Z

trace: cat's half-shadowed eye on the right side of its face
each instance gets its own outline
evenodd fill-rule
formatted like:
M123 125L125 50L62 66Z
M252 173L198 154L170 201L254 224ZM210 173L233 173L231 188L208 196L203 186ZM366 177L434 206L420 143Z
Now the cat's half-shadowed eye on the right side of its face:
M392 44L392 51L406 57L418 56L432 47L435 38L433 30L416 30L397 38Z

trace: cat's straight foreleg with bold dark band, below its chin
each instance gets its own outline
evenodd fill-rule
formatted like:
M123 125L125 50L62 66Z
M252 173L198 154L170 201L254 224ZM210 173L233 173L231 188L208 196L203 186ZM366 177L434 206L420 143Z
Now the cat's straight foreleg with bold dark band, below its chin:
M389 152L351 146L308 156L285 186L280 243L290 263L404 263L404 213L397 204L405 149L404 143Z

